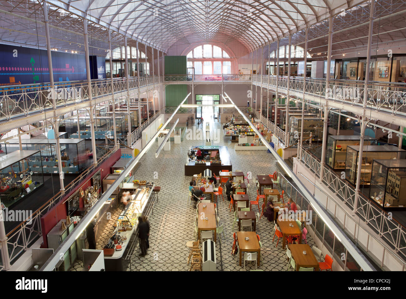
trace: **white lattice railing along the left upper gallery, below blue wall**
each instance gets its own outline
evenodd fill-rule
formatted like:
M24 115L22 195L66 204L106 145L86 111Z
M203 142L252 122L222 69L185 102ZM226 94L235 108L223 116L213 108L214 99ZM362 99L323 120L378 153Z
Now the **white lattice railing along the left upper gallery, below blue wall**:
M140 87L158 84L162 80L162 76L142 77ZM113 83L111 83L111 79L91 81L93 99L111 94L112 85L114 94L119 94L127 89L127 79L113 79ZM129 79L129 87L130 89L138 87L137 77ZM52 91L50 83L1 87L0 122L51 110L54 98L56 108L86 102L89 100L89 84L87 81L56 82L54 91Z

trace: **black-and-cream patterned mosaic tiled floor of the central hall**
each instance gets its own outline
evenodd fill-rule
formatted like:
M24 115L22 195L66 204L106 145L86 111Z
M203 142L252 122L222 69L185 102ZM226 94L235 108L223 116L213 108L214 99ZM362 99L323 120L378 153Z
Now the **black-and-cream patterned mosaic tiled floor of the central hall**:
M209 118L205 118L209 119ZM201 125L199 126L201 127ZM189 127L190 128L190 127ZM220 123L211 120L210 129L222 129ZM205 131L203 129L203 131ZM221 131L220 131L221 132ZM251 137L252 138L252 137ZM202 145L203 140L187 140L181 144L171 142L171 151L161 151L158 158L155 158L155 151L158 144L155 144L141 159L141 165L136 171L140 179L155 182L161 186L159 203L155 205L153 215L149 221L151 225L148 249L145 258L139 257L139 248L134 253L127 271L187 271L190 265L187 264L189 250L186 242L194 240L194 217L196 210L193 204L188 204L188 186L191 177L184 176L184 164L187 159L189 146ZM250 199L256 199L256 189L253 186L257 174L268 174L276 170L276 159L267 151L235 151L235 142L230 137L224 137L221 133L220 142L214 145L228 146L229 154L233 164L233 170L242 170L244 173L251 172L249 179L251 188ZM155 179L154 179L155 176ZM216 254L218 271L244 271L243 266L235 263L235 256L231 255L233 245L233 232L238 231L238 226L233 226L233 212L229 212L229 201L218 200L218 216L220 223L224 223L224 234L221 240L217 237ZM258 211L256 206L254 211ZM273 223L263 217L257 224L257 234L261 237L262 262L258 267L266 271L283 271L286 269L285 250L281 248L281 241L277 248L275 238L272 242ZM307 235L310 246L313 240ZM221 243L221 254L220 254ZM283 268L285 267L285 268ZM255 262L246 262L246 270L255 269ZM292 269L291 269L292 271Z

